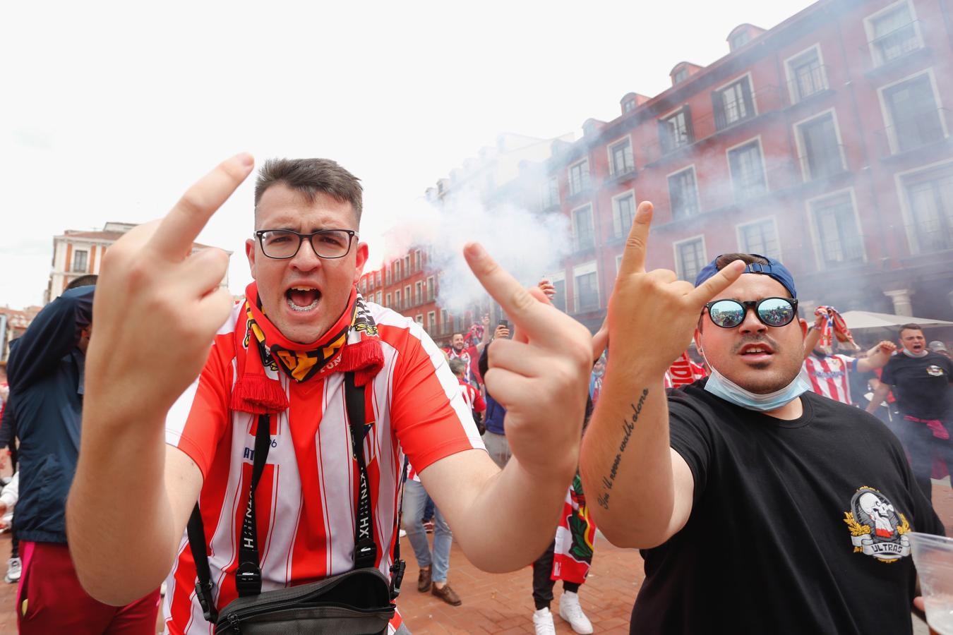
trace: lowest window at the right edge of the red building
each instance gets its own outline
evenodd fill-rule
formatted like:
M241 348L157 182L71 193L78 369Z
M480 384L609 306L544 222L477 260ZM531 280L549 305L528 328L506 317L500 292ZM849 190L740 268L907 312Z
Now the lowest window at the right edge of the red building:
M904 179L913 237L920 251L953 248L953 166Z

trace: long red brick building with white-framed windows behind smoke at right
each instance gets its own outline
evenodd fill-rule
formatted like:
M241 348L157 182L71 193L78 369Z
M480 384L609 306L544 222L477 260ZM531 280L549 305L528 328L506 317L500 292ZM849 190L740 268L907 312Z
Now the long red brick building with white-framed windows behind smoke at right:
M488 200L570 220L573 252L550 276L558 306L598 328L636 205L650 200L650 268L694 280L720 253L763 253L793 270L805 314L829 304L953 320L946 0L821 0L771 30L740 25L727 43L488 184ZM414 311L443 332L436 306Z

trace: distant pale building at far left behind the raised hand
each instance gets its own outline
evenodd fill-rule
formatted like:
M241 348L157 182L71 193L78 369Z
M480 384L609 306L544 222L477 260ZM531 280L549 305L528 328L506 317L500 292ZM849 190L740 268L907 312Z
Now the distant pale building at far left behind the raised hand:
M44 292L44 304L55 300L73 280L89 273L98 274L106 249L134 228L134 223L107 223L101 231L67 229L53 236L53 258L50 282ZM193 252L206 248L193 243ZM230 256L231 251L227 252ZM229 274L225 272L222 286L228 287Z

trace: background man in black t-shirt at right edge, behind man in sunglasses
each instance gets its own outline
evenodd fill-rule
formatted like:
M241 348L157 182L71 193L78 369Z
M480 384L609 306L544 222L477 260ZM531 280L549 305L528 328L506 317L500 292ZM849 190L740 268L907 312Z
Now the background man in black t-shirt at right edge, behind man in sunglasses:
M900 342L903 349L883 367L881 385L871 403L879 405L893 390L902 416L898 436L910 453L917 483L927 500L932 500L930 472L935 455L953 477L953 441L948 430L953 422L945 421L950 411L953 361L927 349L923 328L918 325L900 327ZM867 411L873 408L868 406Z

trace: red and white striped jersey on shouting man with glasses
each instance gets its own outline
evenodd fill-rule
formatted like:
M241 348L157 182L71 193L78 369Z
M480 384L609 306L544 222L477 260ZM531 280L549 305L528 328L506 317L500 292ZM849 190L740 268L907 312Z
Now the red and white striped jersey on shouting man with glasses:
M384 367L365 390L371 424L365 457L378 567L389 576L403 453L423 469L483 443L456 377L430 337L409 318L375 304L367 307L377 325ZM236 379L233 329L245 325L242 308L236 305L215 335L201 375L166 419L166 443L188 454L204 477L199 504L219 609L237 597L234 572L257 418L229 409ZM255 490L262 591L354 568L357 491L344 375L295 383L283 373L265 371L280 380L290 406L271 418L272 446ZM211 633L195 598L195 566L185 536L167 583L167 632ZM397 624L392 622L392 630Z

